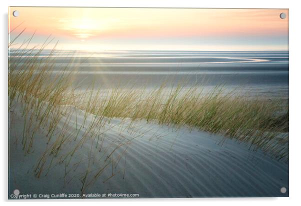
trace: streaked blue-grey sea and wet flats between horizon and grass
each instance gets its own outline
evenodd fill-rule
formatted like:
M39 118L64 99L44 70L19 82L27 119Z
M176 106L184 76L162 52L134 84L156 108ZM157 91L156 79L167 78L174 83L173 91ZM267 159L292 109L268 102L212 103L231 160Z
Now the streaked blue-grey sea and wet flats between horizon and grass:
M10 49L10 64L26 67L26 59ZM50 50L39 55L41 62ZM288 51L55 51L51 58L54 72L68 66L75 75L74 85L94 87L152 88L178 83L210 90L221 85L225 90L239 88L241 95L288 98ZM42 63L43 64L43 63ZM41 65L42 65L41 64Z

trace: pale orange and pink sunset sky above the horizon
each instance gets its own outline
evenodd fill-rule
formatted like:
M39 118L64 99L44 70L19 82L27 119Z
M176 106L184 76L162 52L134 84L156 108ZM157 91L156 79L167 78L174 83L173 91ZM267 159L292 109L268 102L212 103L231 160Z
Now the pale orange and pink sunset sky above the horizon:
M9 39L23 29L11 47L34 33L28 47L50 35L46 48L72 50L288 49L288 9L9 7Z

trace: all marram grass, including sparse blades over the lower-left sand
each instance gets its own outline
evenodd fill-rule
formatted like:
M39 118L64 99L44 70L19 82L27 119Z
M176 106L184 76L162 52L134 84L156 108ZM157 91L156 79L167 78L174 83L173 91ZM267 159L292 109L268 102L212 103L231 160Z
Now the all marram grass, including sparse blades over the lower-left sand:
M24 41L24 44L28 45L30 40ZM246 97L247 94L238 94L237 89L225 92L219 85L204 92L199 85L186 86L184 81L171 88L164 82L152 89L134 86L132 89L102 89L101 85L95 89L92 82L84 92L78 93L76 89L80 85L75 87L72 84L76 68L68 64L62 71L53 71L55 47L47 57L40 57L48 43L46 40L37 50L11 50L8 62L8 110L13 111L17 104L20 105L19 112L23 119L20 142L24 155L34 151L35 134L41 129L45 131L47 146L33 167L38 178L42 174L47 175L51 167L64 164L63 184L79 178L83 193L106 168L112 168L112 174L107 179L116 172L124 174L125 162L123 171L116 171L121 156L132 139L145 135L149 130L132 130L132 139L117 138L111 145L103 147L103 141L110 138L106 136L106 131L116 126L114 123L107 124L113 118L119 118L121 123L130 119L128 128L144 120L176 129L184 126L190 130L221 134L225 139L247 143L250 149L260 148L278 160L288 161L287 100L250 98ZM78 114L78 110L82 112ZM87 121L91 114L92 120ZM72 127L69 124L74 115L75 126ZM79 119L81 123L77 123ZM13 119L9 124L13 128ZM154 132L153 136L156 135ZM75 143L67 146L70 142ZM90 142L88 159L73 158L87 142ZM112 158L112 154L121 147L124 149L122 155ZM97 169L90 168L94 149L100 152L99 160L102 159ZM66 178L70 170L75 171L79 164L86 162L83 173Z

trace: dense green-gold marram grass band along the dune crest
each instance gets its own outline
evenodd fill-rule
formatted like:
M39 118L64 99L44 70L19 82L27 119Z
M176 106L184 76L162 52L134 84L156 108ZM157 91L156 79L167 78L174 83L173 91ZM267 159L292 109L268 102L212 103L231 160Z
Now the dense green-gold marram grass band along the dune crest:
M72 105L85 111L84 118L90 113L97 116L90 127L101 126L103 117L130 118L132 121L145 119L222 134L255 145L254 148L261 148L277 159L288 158L288 104L285 100L241 97L235 94L235 90L223 92L222 86L204 93L199 86L187 88L184 84L177 84L167 88L165 83L150 91L121 87L107 90L101 89L101 85L94 89L91 83L86 92L76 94L72 72L67 72L72 68L66 65L63 71L54 73L51 56L55 48L41 60L43 46L37 52L17 49L10 55L9 109L15 99L20 101L26 121L23 149L30 148L39 126L47 125L50 140L64 113L59 106ZM32 52L31 57L24 56L28 52ZM25 61L21 62L21 59ZM76 71L74 73L76 75ZM38 126L32 123L34 120L38 121ZM81 125L85 126L84 123Z

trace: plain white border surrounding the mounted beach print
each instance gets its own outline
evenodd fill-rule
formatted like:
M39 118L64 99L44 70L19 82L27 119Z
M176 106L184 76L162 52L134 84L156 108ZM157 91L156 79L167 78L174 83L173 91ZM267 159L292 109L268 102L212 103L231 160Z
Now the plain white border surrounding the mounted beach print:
M1 186L0 199L4 204L65 204L70 202L74 205L80 205L83 201L87 204L119 204L123 205L153 205L153 204L169 204L182 205L252 205L255 204L273 204L285 205L289 203L297 204L300 202L300 82L301 82L301 45L300 33L300 13L301 8L298 6L297 0L1 0L1 82L0 82L0 131L1 131ZM219 8L289 8L289 197L278 198L165 198L165 199L91 199L91 200L52 200L52 201L8 201L7 200L7 7L10 6L99 6L99 7L219 7Z

